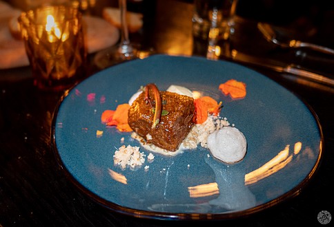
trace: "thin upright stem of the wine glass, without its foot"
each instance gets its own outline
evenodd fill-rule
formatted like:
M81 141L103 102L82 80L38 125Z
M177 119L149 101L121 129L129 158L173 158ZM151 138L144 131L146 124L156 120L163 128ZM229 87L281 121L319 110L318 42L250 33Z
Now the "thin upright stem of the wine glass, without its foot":
M132 46L130 44L128 23L126 22L126 0L119 0L119 10L121 11L121 45L119 51L122 54L132 54Z

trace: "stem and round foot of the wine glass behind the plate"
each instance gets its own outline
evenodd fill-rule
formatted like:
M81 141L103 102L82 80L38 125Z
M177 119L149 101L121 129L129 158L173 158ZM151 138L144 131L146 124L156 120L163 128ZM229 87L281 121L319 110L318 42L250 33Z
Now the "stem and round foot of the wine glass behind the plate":
M128 24L126 22L126 0L119 0L119 10L121 12L121 42L119 45L97 52L94 62L99 69L105 69L111 65L137 58L138 50L129 39Z

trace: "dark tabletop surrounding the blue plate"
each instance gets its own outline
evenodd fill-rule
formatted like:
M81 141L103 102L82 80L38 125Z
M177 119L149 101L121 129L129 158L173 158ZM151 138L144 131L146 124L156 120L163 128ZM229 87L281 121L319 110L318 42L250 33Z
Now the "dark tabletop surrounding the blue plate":
M11 2L12 6L19 7L23 1ZM86 14L101 17L101 10L104 7L117 5L117 2L107 0L95 3L94 8L85 11ZM206 56L208 41L197 39L192 33L193 1L144 0L143 4L142 8L137 10L141 10L144 14L144 25L138 32L130 34L131 41L141 43L142 47L153 47L157 53ZM230 36L228 43L218 41L222 50L227 50L222 51L223 54L219 55L219 58L233 61L230 56L231 50L237 50L259 58L270 58L275 64L293 65L334 78L331 67L333 56L306 49L279 49L263 39L256 30L257 21L266 21L277 26L281 32L286 30L297 32L298 39L333 48L333 17L333 6L327 6L325 3L314 3L314 6L310 6L304 1L291 3L239 0L235 33ZM291 35L292 32L288 34ZM89 59L93 56L94 53L90 54ZM319 224L317 215L320 211L328 210L334 214L333 199L331 199L333 186L328 184L333 179L331 163L334 161L334 155L331 153L334 149L333 87L287 73L273 72L260 65L241 64L261 72L286 87L315 112L324 133L323 158L315 177L297 193L296 197L254 215L223 222L210 222L210 224L213 226ZM88 65L87 76L97 71L94 65ZM1 69L0 90L0 210L2 212L0 225L183 226L189 224L184 221L168 222L128 217L110 212L92 202L68 181L50 149L53 113L63 93L38 91L32 85L29 67ZM224 170L216 171L217 175L224 176ZM238 177L237 173L235 174ZM217 186L219 187L219 184ZM248 192L244 191L242 195L248 199L245 202L250 204L253 202Z

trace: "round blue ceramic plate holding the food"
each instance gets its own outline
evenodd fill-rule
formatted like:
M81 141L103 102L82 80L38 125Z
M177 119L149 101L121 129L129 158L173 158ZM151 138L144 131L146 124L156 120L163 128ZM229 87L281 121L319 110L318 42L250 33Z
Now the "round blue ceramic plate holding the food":
M233 100L219 91L232 78L246 83L246 98ZM140 145L130 133L103 125L101 114L148 83L161 90L181 85L222 101L220 116L246 136L245 158L226 165L199 146L175 157L155 154L148 162L150 152L141 147L146 155L141 168L114 166L116 149ZM226 219L255 213L297 195L322 156L322 131L304 102L246 67L198 57L156 55L105 69L70 90L53 124L57 157L72 182L100 204L136 217Z

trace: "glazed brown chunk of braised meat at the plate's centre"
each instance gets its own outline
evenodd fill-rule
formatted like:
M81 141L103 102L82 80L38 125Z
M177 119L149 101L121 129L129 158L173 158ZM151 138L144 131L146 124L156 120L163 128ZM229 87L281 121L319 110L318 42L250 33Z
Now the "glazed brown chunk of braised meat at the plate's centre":
M168 111L166 116L161 116L159 124L152 128L154 104L153 107L146 104L145 92L132 103L128 111L128 124L146 142L168 151L176 151L194 125L194 99L168 91L159 93L162 109ZM155 103L153 92L150 91L149 95L151 102Z

